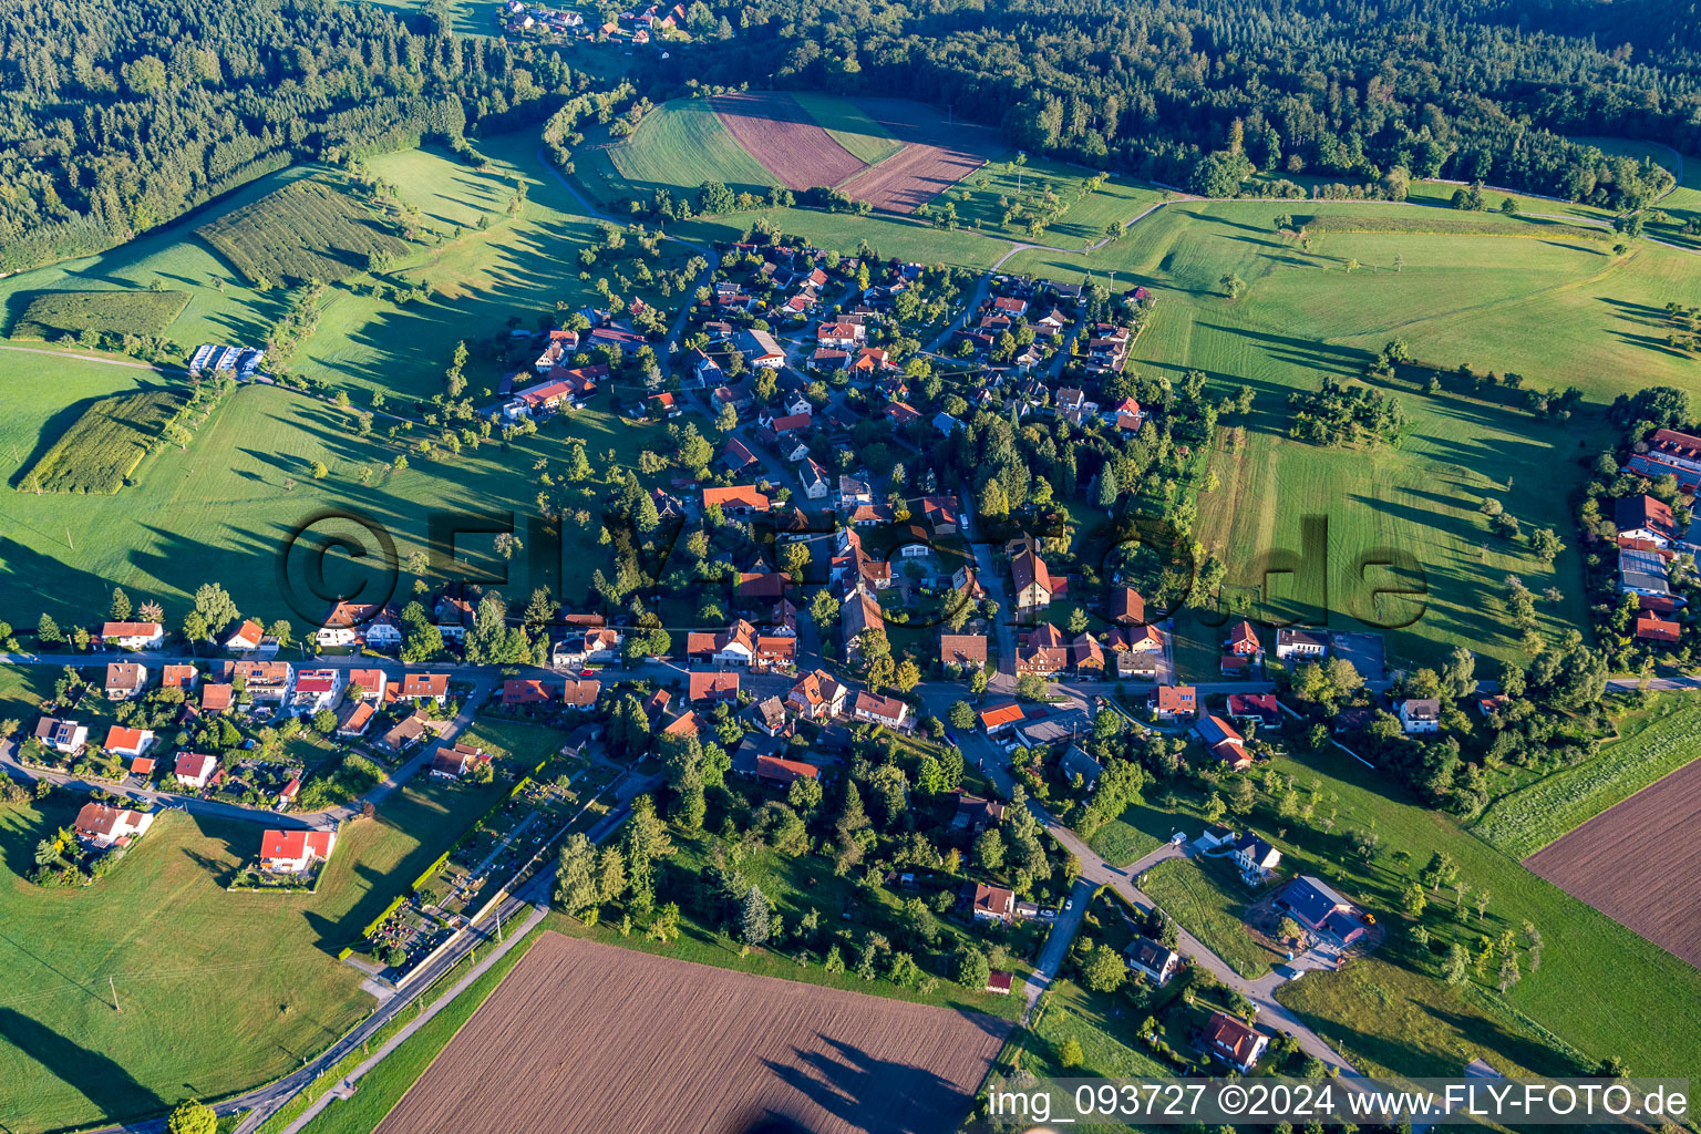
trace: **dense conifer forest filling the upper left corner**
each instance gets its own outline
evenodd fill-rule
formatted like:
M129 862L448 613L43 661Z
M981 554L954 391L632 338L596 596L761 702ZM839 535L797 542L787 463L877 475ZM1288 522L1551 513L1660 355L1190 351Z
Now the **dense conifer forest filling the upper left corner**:
M456 141L583 85L338 0L0 0L0 270L107 248L303 158Z

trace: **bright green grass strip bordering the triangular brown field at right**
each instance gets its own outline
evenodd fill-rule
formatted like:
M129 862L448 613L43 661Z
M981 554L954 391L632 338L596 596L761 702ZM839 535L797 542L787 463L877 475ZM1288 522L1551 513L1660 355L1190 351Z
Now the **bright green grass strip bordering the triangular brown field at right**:
M1527 859L1698 757L1701 704L1679 694L1597 757L1495 801L1471 830L1507 855Z

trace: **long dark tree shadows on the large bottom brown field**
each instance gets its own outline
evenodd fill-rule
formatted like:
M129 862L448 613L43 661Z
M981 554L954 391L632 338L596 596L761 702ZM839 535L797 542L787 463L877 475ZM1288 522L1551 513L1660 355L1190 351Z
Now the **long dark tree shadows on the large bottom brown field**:
M818 1039L837 1056L796 1051L796 1063L764 1063L805 1098L854 1129L932 1134L951 1129L968 1110L968 1097L927 1068L876 1059L830 1035Z

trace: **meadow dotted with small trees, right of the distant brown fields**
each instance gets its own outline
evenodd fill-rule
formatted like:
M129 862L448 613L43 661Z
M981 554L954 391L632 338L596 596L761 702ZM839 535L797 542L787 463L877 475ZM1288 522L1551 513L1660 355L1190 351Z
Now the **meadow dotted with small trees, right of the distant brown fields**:
M1089 170L1061 162L1029 160L1017 165L1005 158L970 173L961 184L939 194L932 204L939 207L946 201L954 202L964 224L990 236L1080 248L1104 240L1111 221L1126 224L1163 197L1157 189L1114 180L1082 196L1090 175ZM1034 238L1027 231L1027 219L1036 213L1051 211L1048 202L1061 213ZM1017 206L1019 214L1005 223L1005 207Z

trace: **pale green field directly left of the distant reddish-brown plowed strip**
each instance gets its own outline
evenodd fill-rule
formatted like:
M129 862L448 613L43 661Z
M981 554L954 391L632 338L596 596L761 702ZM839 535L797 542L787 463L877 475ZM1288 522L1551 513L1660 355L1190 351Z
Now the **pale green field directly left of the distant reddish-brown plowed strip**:
M606 150L592 158L595 146ZM708 99L663 102L645 114L624 141L589 131L573 165L600 204L621 197L648 201L657 189L694 197L708 180L733 192L767 192L776 184L774 175L733 139Z

